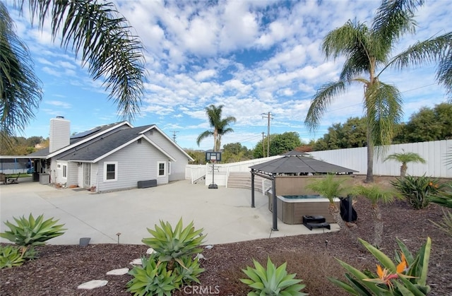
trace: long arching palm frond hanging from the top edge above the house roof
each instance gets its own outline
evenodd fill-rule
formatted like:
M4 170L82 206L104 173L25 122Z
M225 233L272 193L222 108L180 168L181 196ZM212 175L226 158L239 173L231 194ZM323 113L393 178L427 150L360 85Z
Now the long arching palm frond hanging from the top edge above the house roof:
M20 0L23 6L24 0ZM139 113L145 79L143 46L112 3L30 0L32 19L42 29L50 17L52 37L61 32L61 47L81 52L83 66L94 80L104 77L109 100L124 119Z

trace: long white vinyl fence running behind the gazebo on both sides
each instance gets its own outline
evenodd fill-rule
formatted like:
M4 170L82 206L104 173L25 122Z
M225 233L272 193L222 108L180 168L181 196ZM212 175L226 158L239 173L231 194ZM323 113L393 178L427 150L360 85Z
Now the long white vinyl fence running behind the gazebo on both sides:
M380 149L382 152L374 153L374 175L376 176L400 176L400 162L395 160L383 160L393 153L413 152L419 154L424 160L422 163L408 163L407 174L412 176L452 178L452 165L446 166L446 155L452 153L452 140L431 141L420 143L407 143L387 146ZM317 160L323 160L333 165L340 165L352 170L357 170L355 174L367 174L367 148L347 148L326 151L314 151L309 155ZM270 158L258 158L242 162L215 164L215 184L225 186L230 172L249 172L252 165L267 162L283 155L272 156ZM309 157L309 156L307 156ZM452 160L452 159L451 159ZM190 179L191 183L196 179L206 176L206 185L212 182L212 165L187 165L185 169L185 179Z

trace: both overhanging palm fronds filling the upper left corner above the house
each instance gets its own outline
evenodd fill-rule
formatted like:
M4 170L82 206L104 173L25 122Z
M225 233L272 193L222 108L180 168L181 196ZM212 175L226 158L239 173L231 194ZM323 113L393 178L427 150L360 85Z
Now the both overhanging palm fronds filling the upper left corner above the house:
M17 2L22 10L25 0ZM121 117L133 119L143 95L143 46L114 4L99 4L95 0L29 0L28 3L32 20L37 20L42 29L50 18L52 37L61 37L61 47L81 54L82 65L88 65L93 79L105 79L108 99L117 104ZM13 34L13 22L3 3L0 3L0 13L0 128L2 134L11 136L22 131L32 119L32 109L39 105L42 94L26 47ZM21 89L15 89L15 81Z

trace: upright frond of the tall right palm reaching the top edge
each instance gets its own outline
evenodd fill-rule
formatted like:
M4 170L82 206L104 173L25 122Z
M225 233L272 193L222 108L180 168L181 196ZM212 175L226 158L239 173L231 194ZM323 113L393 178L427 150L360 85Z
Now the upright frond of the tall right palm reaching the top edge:
M388 54L394 42L406 33L415 32L415 12L424 0L383 0L372 23L372 39L380 52Z

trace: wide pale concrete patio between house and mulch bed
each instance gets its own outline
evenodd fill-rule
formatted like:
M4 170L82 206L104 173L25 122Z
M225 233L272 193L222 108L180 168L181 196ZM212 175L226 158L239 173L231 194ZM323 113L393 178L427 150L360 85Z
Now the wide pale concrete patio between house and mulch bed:
M20 178L19 184L0 185L0 230L8 229L3 223L6 220L15 223L13 217L32 213L65 224L66 233L49 240L49 244L78 244L81 237L90 237L90 244L117 243L118 232L121 244L142 244L143 237L150 237L147 227L153 229L159 220L169 221L174 227L181 217L184 225L193 220L196 229L204 229L206 244L330 231L310 231L304 225L286 225L280 220L279 231L272 231L267 202L266 196L256 192L256 208L251 208L249 189L208 189L186 180L93 194L88 190L55 189L31 182L31 178ZM338 225L331 225L331 231L337 230Z

